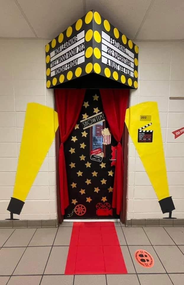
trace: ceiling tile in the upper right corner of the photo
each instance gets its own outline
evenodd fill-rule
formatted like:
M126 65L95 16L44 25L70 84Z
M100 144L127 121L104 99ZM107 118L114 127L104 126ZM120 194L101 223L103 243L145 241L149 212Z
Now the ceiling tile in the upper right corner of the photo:
M184 39L183 15L183 0L155 0L137 39Z

